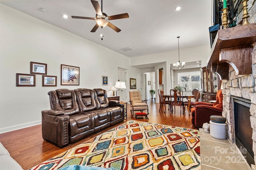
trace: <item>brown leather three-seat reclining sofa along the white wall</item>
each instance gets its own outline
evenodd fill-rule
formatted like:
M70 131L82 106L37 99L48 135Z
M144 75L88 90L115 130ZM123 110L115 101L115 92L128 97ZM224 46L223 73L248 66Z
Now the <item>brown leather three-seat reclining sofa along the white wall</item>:
M58 147L124 121L124 105L108 101L106 90L58 89L48 95L51 109L42 111L42 136Z

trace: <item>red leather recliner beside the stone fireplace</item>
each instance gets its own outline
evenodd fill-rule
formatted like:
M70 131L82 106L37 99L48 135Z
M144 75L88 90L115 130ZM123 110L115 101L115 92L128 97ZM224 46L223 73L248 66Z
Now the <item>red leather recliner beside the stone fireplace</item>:
M222 115L222 90L218 90L216 94L216 102L196 102L195 107L191 109L191 122L197 127L202 127L203 123L209 123L211 115Z

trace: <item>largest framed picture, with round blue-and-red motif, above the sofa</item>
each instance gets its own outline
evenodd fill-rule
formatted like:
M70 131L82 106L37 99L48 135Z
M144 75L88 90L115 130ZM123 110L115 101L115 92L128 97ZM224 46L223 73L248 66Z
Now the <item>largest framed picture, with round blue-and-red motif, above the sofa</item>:
M60 85L79 85L79 67L61 64Z

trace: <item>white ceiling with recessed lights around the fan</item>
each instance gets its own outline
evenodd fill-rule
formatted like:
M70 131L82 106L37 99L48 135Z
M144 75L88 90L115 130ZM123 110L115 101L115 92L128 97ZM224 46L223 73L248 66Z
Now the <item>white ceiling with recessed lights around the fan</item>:
M129 18L110 20L122 31L110 27L91 29L94 20L72 19L71 16L95 17L90 0L0 0L2 4L24 12L116 51L127 57L137 57L209 44L211 0L103 0L103 12L108 16L128 13ZM99 0L101 6L101 1ZM180 11L175 7L181 6ZM46 12L42 12L44 8ZM67 19L62 17L68 15ZM101 40L100 34L104 34ZM123 48L132 51L122 51Z

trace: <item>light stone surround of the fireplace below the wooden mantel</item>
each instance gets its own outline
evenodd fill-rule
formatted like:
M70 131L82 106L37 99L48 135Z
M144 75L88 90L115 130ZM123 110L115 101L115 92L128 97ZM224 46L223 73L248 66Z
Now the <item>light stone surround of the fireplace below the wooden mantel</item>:
M223 112L222 115L227 119L227 136L232 143L236 143L235 137L235 117L234 117L234 97L250 100L250 126L252 127L252 150L254 161L256 160L256 43L253 44L252 74L236 75L234 68L229 66L229 80L222 80L223 93ZM239 121L239 120L238 120Z

